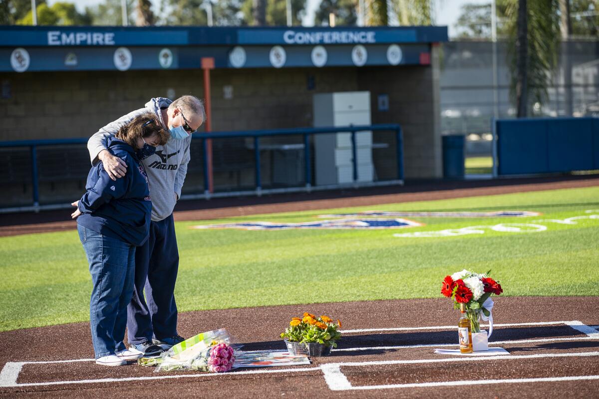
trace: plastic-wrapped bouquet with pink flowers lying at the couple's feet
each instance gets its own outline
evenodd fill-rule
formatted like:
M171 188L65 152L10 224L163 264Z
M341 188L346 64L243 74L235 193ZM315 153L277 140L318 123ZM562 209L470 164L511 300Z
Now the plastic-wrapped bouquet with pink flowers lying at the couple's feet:
M223 373L235 363L231 337L224 328L207 331L174 345L158 358L141 358L141 366L158 366L155 371L195 370Z

